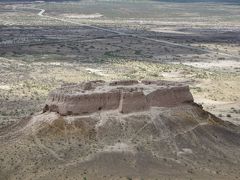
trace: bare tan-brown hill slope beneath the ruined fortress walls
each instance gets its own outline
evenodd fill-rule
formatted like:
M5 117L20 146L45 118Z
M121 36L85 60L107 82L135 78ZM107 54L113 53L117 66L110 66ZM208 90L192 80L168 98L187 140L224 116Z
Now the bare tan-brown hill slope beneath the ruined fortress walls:
M75 94L79 86L53 92ZM148 85L124 85L132 86L144 92ZM127 114L101 109L61 115L44 109L0 132L0 179L240 178L240 127L193 101Z

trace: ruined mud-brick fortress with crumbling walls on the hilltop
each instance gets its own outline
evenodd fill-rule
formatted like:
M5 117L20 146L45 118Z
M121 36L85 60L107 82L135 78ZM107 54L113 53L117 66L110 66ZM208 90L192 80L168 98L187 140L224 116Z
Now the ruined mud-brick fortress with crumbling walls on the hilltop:
M64 85L51 92L43 111L61 115L84 115L102 110L131 113L186 102L193 102L189 87L175 82L90 81Z

